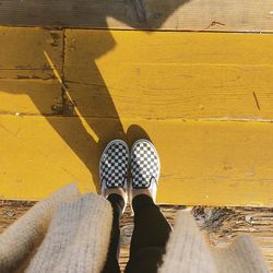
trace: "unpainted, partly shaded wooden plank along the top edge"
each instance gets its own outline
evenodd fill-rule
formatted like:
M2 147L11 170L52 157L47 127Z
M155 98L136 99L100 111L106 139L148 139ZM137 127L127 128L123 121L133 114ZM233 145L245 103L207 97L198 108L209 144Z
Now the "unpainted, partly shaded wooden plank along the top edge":
M179 31L272 32L271 0L0 1L0 24Z

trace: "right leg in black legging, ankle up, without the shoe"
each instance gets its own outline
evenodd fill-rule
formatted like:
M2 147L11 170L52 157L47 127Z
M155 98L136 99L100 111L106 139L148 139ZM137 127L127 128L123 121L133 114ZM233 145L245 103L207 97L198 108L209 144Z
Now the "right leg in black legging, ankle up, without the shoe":
M151 197L136 195L132 206L134 229L126 272L157 272L171 227Z

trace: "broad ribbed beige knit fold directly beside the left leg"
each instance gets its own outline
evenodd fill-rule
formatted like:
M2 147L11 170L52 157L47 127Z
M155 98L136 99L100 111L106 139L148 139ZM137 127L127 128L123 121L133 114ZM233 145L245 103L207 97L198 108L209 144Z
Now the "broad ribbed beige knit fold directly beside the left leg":
M61 204L26 272L100 272L111 221L110 203L95 193Z

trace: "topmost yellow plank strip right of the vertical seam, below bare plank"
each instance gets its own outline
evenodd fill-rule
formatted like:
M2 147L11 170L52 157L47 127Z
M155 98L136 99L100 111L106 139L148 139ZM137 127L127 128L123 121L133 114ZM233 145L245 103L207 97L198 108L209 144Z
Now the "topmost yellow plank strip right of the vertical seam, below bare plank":
M91 58L121 63L272 64L272 46L269 34L66 29L66 52L86 54L79 66Z

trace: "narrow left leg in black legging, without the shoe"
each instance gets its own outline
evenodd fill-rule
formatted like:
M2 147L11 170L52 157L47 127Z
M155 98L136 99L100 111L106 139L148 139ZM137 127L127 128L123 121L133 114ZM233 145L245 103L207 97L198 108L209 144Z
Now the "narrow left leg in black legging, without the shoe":
M119 219L122 215L122 210L124 207L124 199L117 193L109 194L107 200L111 203L112 207L112 225L111 225L111 236L110 245L108 248L107 260L103 273L116 273L120 272L118 263L119 254Z

